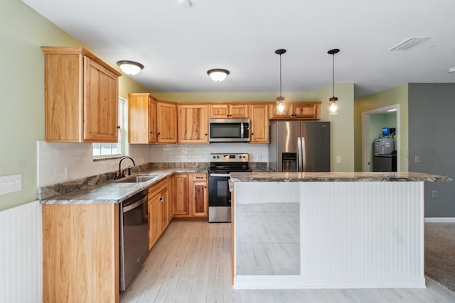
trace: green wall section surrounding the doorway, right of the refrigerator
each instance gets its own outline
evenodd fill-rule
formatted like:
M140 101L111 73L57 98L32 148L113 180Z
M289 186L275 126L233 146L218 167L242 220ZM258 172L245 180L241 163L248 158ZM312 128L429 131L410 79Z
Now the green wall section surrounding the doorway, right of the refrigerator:
M400 106L400 167L398 170L407 172L407 150L408 150L408 84L402 84L399 87L388 89L384 92L374 94L354 102L354 145L355 145L355 163L354 170L362 171L362 114L365 111L380 109L385 106L399 104Z

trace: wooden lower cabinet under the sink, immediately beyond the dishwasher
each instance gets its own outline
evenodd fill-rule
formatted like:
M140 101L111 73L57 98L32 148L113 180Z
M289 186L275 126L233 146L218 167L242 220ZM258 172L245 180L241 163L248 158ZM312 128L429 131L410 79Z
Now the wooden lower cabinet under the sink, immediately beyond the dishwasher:
M154 246L161 233L169 225L168 178L149 187L149 249Z

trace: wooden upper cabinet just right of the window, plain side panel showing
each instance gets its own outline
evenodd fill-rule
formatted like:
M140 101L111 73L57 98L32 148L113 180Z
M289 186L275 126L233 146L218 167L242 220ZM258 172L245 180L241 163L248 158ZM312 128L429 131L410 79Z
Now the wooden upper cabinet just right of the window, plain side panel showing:
M149 93L128 94L128 142L156 143L156 99Z

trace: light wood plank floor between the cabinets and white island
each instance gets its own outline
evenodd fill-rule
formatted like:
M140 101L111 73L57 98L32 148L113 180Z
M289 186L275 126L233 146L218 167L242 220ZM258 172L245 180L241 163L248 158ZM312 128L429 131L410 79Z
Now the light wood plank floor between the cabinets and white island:
M173 221L121 302L455 302L429 277L426 289L233 290L230 224Z

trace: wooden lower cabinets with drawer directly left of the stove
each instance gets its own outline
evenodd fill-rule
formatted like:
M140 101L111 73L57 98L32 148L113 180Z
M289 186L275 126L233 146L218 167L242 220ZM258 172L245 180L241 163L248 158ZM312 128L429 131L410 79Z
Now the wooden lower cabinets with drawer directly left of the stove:
M207 174L178 174L173 178L174 218L208 218Z

